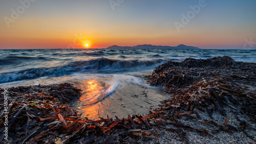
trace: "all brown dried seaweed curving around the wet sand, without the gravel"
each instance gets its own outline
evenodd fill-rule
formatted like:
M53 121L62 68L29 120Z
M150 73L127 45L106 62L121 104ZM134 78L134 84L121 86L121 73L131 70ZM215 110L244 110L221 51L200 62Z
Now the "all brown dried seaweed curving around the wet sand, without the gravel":
M210 118L214 112L225 115L225 107L244 112L256 122L256 97L253 88L256 79L256 64L235 62L230 57L216 57L207 60L186 59L182 62L167 62L155 68L147 77L152 85L162 85L172 94L162 101L159 108L144 117L128 115L127 118L100 118L97 121L81 118L80 113L68 105L71 99L79 98L81 90L72 84L20 86L10 88L8 101L8 134L5 143L135 143L135 139L157 141L159 133L153 127L178 133L181 141L187 141L186 131L209 135L205 129L179 122L181 117L198 118L202 125L216 127L216 131L244 131L241 127L229 125L229 117L218 125L214 120L201 119L196 110L206 111ZM4 90L4 89L1 89ZM3 99L3 95L1 95ZM239 107L238 107L239 106ZM1 122L3 127L3 105ZM166 124L176 128L167 128ZM3 132L4 127L0 128ZM0 140L3 140L3 133ZM254 140L254 139L253 139Z

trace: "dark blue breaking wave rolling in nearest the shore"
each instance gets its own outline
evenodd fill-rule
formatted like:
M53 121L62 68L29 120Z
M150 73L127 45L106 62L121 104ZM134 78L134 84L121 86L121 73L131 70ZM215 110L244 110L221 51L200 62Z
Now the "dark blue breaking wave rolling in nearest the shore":
M73 61L55 67L36 67L11 71L0 74L0 83L13 82L40 77L59 77L74 73L114 73L118 71L133 71L153 69L166 60L113 60L98 58L84 61Z

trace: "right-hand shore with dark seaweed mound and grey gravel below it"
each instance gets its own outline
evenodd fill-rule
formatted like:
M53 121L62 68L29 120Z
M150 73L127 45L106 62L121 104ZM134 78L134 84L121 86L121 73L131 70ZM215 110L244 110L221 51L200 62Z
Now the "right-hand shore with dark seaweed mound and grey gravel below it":
M163 101L165 107L173 107L169 119L211 134L203 138L190 134L194 138L185 141L255 143L255 70L255 63L236 62L228 56L187 58L159 65L148 82L164 86L165 92L173 94Z

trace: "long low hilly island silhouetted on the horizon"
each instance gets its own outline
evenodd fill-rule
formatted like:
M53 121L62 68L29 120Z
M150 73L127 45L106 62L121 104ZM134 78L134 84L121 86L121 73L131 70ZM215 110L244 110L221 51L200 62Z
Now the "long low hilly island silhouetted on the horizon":
M107 47L106 49L197 49L198 47L195 46L187 46L184 44L180 44L178 46L162 46L162 45L151 45L151 44L142 44L136 46L118 46L112 45Z

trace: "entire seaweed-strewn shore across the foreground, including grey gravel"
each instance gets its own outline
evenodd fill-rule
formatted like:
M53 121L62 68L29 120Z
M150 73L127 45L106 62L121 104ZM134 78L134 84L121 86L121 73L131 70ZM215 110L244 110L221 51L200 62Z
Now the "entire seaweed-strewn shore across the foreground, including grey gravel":
M79 96L79 90L71 84L13 88L13 90L25 89L26 91L26 89L37 87L43 92L19 91L18 98L9 99L9 106L12 103L10 109L8 108L10 122L16 123L15 119L19 117L30 119L27 123L25 119L21 119L24 122L20 125L24 127L27 125L27 127L19 126L19 135L10 133L10 136L13 139L16 138L16 141L48 140L47 142L50 143L79 141L129 143L136 142L137 138L141 142L152 143L193 142L191 140L200 142L199 137L203 136L205 138L201 142L214 143L224 142L228 140L227 137L232 140L238 135L243 135L242 142L254 143L256 139L255 108L250 103L255 99L255 93L251 91L255 87L253 84L256 79L255 67L255 63L236 62L227 56L206 60L188 58L182 62L166 62L156 67L153 75L148 76L147 79L152 85L164 86L165 92L173 94L173 97L162 101L159 108L150 111L150 114L145 117L129 115L128 118L122 119L118 117L101 118L98 121L79 119L79 113L75 112L74 108L63 105L66 103L66 96L66 99L73 99L72 93L73 97ZM46 88L40 89L40 87ZM52 87L56 88L52 89L55 90L55 95L54 92L49 92ZM71 89L70 93L67 93L67 88ZM13 90L9 92L14 92ZM38 93L41 94L38 95ZM58 99L54 98L56 93ZM20 100L17 101L17 99ZM243 99L242 104L239 104L240 99ZM34 103L35 100L47 100L49 103L40 101ZM246 107L243 104L249 106ZM22 105L25 106L22 107ZM251 111L248 111L248 108ZM41 111L40 118L35 117L35 111ZM233 114L234 112L237 114ZM14 117L16 114L17 116ZM31 124L37 127L34 128ZM46 129L44 125L51 127ZM15 131L17 127L18 125L10 126L9 132ZM231 136L231 132L237 136ZM223 135L219 141L218 139L214 141L215 139L211 137L216 133L218 136L222 136L223 133L227 135ZM195 137L192 138L193 136Z

